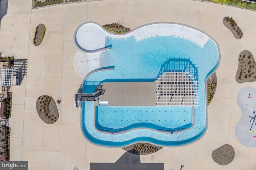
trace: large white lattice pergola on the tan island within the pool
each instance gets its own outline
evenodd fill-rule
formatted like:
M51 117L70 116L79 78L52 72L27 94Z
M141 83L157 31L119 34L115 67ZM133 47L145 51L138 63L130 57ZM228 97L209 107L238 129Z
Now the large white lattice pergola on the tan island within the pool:
M164 72L156 82L156 106L198 106L198 84L189 72Z

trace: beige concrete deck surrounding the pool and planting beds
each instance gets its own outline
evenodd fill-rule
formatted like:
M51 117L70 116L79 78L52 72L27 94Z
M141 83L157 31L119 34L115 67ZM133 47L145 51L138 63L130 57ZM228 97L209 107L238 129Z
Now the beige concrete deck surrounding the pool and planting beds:
M235 74L241 51L256 54L256 12L191 0L106 0L37 10L31 10L31 4L31 0L10 0L1 21L2 56L14 54L28 59L27 75L20 87L13 88L10 160L28 160L29 170L70 170L74 166L90 170L90 162L116 162L125 153L123 149L92 145L80 133L80 109L72 102L83 80L72 64L78 52L74 31L86 21L101 25L118 22L131 29L161 21L196 27L217 41L221 51L218 86L208 106L208 131L202 139L140 156L140 161L164 163L165 170L178 170L180 164L184 164L182 170L255 168L256 148L241 145L235 127L242 116L236 96L241 88L255 87L256 82L238 84ZM242 39L235 39L222 24L225 16L236 20L244 34ZM46 35L35 47L34 31L40 23L46 25ZM132 87L117 88L128 95ZM57 106L60 118L53 125L43 123L36 113L36 99L42 94L61 100ZM226 143L234 147L235 158L221 166L212 160L211 153Z

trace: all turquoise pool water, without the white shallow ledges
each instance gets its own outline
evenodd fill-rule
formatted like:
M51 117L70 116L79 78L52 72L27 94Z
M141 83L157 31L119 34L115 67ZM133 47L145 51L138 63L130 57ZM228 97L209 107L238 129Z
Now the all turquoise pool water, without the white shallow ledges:
M194 125L192 128L180 133L166 133L159 131L159 129L170 130L175 127L185 127L184 129L188 129L191 127L190 123L181 124L178 121L176 123L171 122L171 120L177 120L177 117L176 115L172 117L170 108L177 113L180 107L146 107L144 110L146 109L150 113L165 109L168 111L168 114L160 114L159 117L161 119L158 119L158 123L155 123L155 120L154 123L153 121L148 123L145 120L140 123L136 113L125 116L124 114L115 114L114 109L116 108L114 107L99 106L97 108L97 113L99 114L96 114L94 117L93 111L96 109L94 103L84 102L82 109L82 130L88 140L97 145L122 147L141 141L160 146L176 146L184 145L200 138L206 128L205 80L216 69L219 61L216 43L209 39L204 47L200 47L188 39L173 36L156 36L138 42L134 37L127 39L108 38L106 46L109 45L111 45L110 50L100 52L100 67L112 67L114 69L95 72L88 76L84 82L83 93L93 93L95 87L102 82L155 81L165 71L180 71L179 68L182 67L178 65L171 67L174 70L170 70L170 67L166 64L170 59L177 61L176 64L181 59L184 59L190 61L197 70L198 107L194 107ZM186 110L184 117L188 116L191 118L192 107L187 107L188 110ZM110 110L110 115L105 114ZM131 111L132 109L118 107L119 113L127 110ZM136 111L138 110L139 108L136 108ZM99 111L103 111L104 114L100 114ZM153 120L151 115L147 116ZM104 119L102 119L103 117ZM117 124L113 124L114 120L121 120L123 117L134 120L134 123L128 119L126 123L118 122ZM178 119L182 118L181 115L178 117ZM106 121L108 118L111 121ZM169 121L166 124L164 123L165 118Z

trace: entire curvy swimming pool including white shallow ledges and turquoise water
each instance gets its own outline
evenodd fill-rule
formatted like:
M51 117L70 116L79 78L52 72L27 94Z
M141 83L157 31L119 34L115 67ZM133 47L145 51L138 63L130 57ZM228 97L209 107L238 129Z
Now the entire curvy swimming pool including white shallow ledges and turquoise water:
M86 24L88 23L84 25ZM95 23L89 24L99 27ZM100 32L97 29L86 30L87 32L92 31L90 34L97 36L104 34L105 37L103 36L102 38L102 41L104 40L103 47L101 42L98 46L88 47L88 49L90 49L90 52L93 51L94 47L96 51L98 49L106 49L97 52L100 53L99 70L100 68L109 67L113 69L94 72L86 77L83 93L93 93L96 86L103 82L152 82L156 81L165 72L185 71L193 75L197 82L196 97L198 105L132 108L124 106L94 107L94 102L83 102L82 131L85 137L92 143L111 147L123 147L144 141L160 146L178 146L191 143L204 134L207 126L205 81L218 66L220 57L218 46L212 39L200 31L182 25L184 35L181 35L173 30L176 28L174 25L178 24L163 24L152 24L152 27L146 25L135 29L129 34L122 35L123 37L109 33L105 35L105 31L102 28L98 30ZM90 27L92 26L90 25ZM74 37L80 35L78 32L83 30L81 27L78 28ZM156 29L157 27L159 29ZM152 36L150 35L150 29L152 29ZM141 31L144 31L144 34ZM157 31L165 31L168 35L163 35L163 32L160 32L160 36L158 36ZM139 35L140 37L138 38ZM90 35L88 36L86 41L90 39ZM198 41L196 36L198 36ZM79 44L80 40L76 38L75 41L81 50L87 51L86 44ZM90 55L88 55L88 58L90 58ZM189 64L192 66L188 67ZM182 109L184 109L186 115L178 115L177 117L178 111ZM129 115L118 114L116 113L117 110L118 113L121 113L121 111L134 111L134 113ZM148 118L151 118L150 122L146 122L148 120L145 119L140 123L138 111L142 110L147 110L150 113L152 111L159 113L159 119L154 119L153 122L152 116L149 115ZM176 115L171 115L171 110ZM108 111L111 111L111 114L106 114ZM164 114L163 111L168 111L169 114ZM144 116L146 116L146 113L144 113ZM178 122L177 119L182 118L184 121L184 117L187 117L186 123L171 122L171 120ZM114 123L114 120L121 120L123 118L127 118L126 123ZM168 119L168 123L165 123L165 118ZM132 121L129 121L129 119ZM156 120L158 120L157 123ZM172 129L181 131L172 132Z

